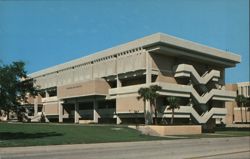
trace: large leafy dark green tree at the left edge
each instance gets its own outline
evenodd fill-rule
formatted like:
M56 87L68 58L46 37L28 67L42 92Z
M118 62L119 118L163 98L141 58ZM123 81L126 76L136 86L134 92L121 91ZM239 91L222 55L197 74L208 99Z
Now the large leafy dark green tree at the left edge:
M20 105L27 102L27 93L36 95L37 92L34 81L27 79L24 67L22 61L0 65L0 109L5 111L7 119L10 111L17 112Z

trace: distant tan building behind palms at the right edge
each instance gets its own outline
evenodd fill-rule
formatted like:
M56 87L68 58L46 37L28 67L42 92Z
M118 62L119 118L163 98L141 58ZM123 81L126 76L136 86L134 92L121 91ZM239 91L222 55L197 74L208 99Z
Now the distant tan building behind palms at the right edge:
M246 98L250 98L250 82L241 82L236 84L227 84L228 90L235 91L237 95L243 95ZM226 102L227 115L225 123L227 125L242 124L250 122L250 110L242 108L241 110L235 101ZM243 121L242 121L243 120Z

